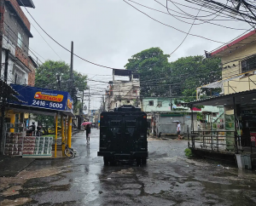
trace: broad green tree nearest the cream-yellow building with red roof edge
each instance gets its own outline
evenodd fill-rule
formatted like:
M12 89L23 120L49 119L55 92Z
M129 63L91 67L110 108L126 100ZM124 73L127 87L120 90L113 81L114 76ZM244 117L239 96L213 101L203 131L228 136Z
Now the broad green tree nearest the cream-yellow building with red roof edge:
M218 58L206 59L204 56L182 57L171 62L170 82L177 84L173 94L182 95L185 101L195 100L196 88L221 79L221 61ZM207 94L218 89L208 89Z

